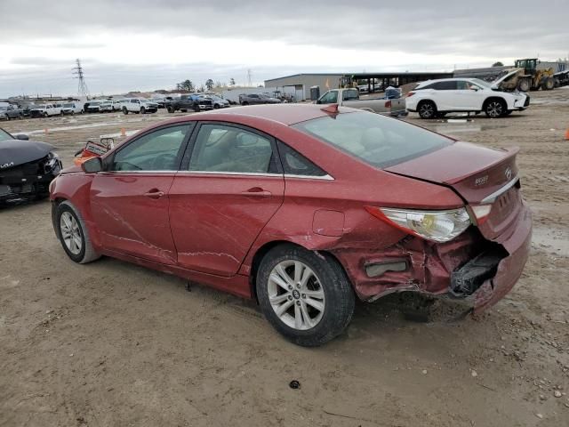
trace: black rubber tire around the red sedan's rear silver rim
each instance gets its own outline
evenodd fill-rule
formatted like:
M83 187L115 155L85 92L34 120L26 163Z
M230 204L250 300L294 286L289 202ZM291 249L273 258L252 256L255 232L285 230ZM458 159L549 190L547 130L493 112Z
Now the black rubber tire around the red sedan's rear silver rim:
M290 304L287 305L288 308L284 310L282 316L290 317L292 320L289 321L294 323L295 318L289 314L290 310L293 310L293 313L296 310L302 313L314 313L316 311L318 314L315 326L304 329L289 326L273 309L269 301L269 286L274 287L275 285L274 282L272 285L269 283L269 277L277 265L282 265L281 262L301 262L315 273L314 281L311 282L312 278L310 278L306 287L297 284L298 289L289 286L289 290L284 290L282 287L276 286L276 293L284 293L278 294L278 296L284 295L283 302ZM354 313L354 291L341 265L330 255L315 254L300 246L281 245L271 249L260 262L256 289L260 308L268 322L286 339L305 347L322 345L341 334L349 325ZM312 300L310 296L303 294L303 290L307 294L309 292L324 293L324 300L322 300L324 310L315 310L312 304L308 304L307 298L312 302L317 300ZM276 294L272 295L273 298L275 296ZM310 318L310 314L308 316ZM301 318L306 319L306 315L303 314ZM310 318L310 322L313 320L315 318Z

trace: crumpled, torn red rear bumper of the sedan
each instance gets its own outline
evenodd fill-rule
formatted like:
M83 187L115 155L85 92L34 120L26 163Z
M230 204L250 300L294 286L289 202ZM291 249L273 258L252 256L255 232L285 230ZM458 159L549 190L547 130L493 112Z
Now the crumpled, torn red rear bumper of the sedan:
M532 216L521 205L508 230L492 240L476 227L444 244L408 237L387 250L337 250L360 299L373 302L401 291L461 300L475 311L498 302L524 270Z

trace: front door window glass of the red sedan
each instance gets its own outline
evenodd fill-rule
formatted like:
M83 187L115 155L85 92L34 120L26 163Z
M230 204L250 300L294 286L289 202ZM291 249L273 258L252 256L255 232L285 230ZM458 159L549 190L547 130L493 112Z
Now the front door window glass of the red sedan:
M171 126L141 136L116 152L110 170L177 171L182 144L193 126Z

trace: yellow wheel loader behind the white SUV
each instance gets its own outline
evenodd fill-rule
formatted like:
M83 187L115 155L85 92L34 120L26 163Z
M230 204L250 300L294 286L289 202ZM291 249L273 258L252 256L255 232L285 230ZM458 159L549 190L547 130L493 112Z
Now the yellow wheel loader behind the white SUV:
M504 91L520 92L550 91L555 87L553 68L538 69L541 60L530 58L516 60L514 68L504 70L504 74L495 83Z

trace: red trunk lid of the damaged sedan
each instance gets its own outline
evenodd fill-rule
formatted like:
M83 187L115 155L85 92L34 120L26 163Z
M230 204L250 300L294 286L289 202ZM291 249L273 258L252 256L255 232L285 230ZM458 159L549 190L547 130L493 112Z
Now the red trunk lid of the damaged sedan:
M492 205L479 229L485 238L501 240L498 236L508 234L522 205L517 183L518 150L488 149L458 141L386 170L452 187L469 205Z

